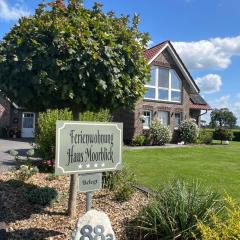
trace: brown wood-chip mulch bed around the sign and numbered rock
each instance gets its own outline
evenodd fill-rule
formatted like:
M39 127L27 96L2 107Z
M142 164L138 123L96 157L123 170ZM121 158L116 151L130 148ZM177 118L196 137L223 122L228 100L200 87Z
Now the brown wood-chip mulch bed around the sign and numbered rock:
M16 172L0 175L0 222L7 224L8 239L71 239L71 232L79 216L85 213L85 194L77 198L77 214L74 219L66 215L69 177L47 180L48 174L38 173L27 181L16 180ZM30 184L39 187L53 187L59 192L59 199L52 206L42 207L30 204L25 196ZM105 189L93 195L93 208L105 212L112 223L117 240L127 239L126 229L129 221L139 209L146 205L148 198L136 191L128 202L117 202L113 194Z

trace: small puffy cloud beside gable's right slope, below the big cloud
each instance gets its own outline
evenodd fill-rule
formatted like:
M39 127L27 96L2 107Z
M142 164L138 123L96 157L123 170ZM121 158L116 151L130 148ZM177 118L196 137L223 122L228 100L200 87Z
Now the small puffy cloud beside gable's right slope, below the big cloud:
M222 86L222 79L217 74L208 74L204 77L198 77L195 81L203 93L219 92Z

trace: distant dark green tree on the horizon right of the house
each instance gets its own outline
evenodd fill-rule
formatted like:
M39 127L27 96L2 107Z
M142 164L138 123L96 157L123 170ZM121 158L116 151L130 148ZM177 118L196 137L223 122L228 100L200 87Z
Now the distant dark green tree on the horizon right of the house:
M210 126L212 127L234 128L236 122L237 118L228 108L214 109L211 112Z

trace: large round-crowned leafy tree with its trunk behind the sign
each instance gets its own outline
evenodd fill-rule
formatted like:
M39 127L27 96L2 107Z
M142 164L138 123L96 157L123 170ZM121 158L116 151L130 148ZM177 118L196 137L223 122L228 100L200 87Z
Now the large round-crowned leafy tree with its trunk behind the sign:
M0 42L0 89L33 111L69 107L75 120L80 111L132 107L149 78L148 36L138 25L138 16L105 14L100 4L40 4ZM76 183L72 175L71 216Z

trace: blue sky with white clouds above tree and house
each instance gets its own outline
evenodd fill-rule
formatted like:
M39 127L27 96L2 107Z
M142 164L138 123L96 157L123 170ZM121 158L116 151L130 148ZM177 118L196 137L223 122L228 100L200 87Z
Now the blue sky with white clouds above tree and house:
M93 0L84 0L92 7ZM240 124L240 0L98 0L104 11L140 15L153 46L170 40L212 108L227 107ZM37 0L0 0L0 39ZM209 120L209 115L205 116Z

